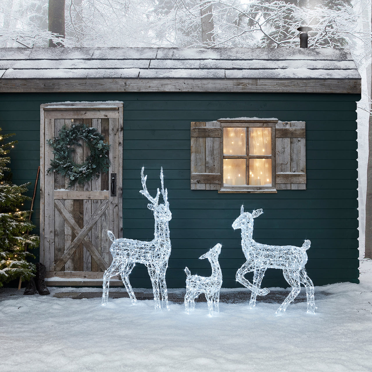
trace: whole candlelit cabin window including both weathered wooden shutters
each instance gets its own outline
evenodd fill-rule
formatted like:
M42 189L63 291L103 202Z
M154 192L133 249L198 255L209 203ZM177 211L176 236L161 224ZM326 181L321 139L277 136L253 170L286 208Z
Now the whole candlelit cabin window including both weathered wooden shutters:
M237 118L191 123L191 189L306 189L305 122Z

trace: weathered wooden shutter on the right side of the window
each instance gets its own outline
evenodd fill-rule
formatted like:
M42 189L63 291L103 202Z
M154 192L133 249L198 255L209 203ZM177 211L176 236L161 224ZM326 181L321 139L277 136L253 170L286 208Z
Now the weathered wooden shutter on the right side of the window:
M305 122L276 124L276 189L306 189Z

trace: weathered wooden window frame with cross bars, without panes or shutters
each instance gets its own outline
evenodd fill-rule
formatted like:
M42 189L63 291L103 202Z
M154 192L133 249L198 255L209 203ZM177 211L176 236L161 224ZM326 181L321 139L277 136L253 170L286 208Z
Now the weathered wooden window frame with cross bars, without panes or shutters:
M219 193L276 193L276 148L275 128L278 120L254 119L254 120L218 120L221 124L221 188ZM246 155L224 155L224 128L246 128ZM249 128L271 128L271 155L249 155ZM271 158L271 186L224 186L224 159L246 159L246 177L249 172L249 159Z

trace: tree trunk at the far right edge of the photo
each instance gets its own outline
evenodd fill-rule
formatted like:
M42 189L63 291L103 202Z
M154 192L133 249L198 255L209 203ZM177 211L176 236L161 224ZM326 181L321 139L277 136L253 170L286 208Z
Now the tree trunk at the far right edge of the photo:
M372 31L372 8L371 8L371 31ZM371 39L371 48L372 48L372 39ZM369 124L369 127L368 127L368 164L367 164L367 195L366 195L366 235L365 235L366 241L365 241L364 257L372 259L372 115L371 115L372 84L370 84L370 89L371 90L369 92L370 103L369 103L369 123L368 123Z

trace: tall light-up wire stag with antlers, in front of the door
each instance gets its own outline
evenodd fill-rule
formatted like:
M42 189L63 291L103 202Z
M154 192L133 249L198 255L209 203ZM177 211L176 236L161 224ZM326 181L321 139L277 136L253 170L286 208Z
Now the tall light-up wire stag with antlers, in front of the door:
M151 202L147 204L147 208L154 211L155 232L154 239L151 241L139 241L126 238L115 239L114 234L108 231L112 245L110 253L113 260L110 267L103 275L103 294L102 305L106 305L109 295L110 278L120 273L126 291L131 298L132 304L137 304L137 299L134 295L131 284L129 283L129 274L131 273L136 262L143 263L147 266L148 274L150 275L153 285L155 311L160 311L159 285L161 291L161 299L164 307L164 302L167 310L169 310L167 285L165 281L165 273L168 267L168 259L170 256L170 238L169 238L169 221L172 214L169 210L168 191L164 190L163 167L160 171L161 180L161 195L164 203L159 204L160 191L157 189L155 198L151 197L147 191L146 180L147 175L143 174L144 167L141 170L141 182L143 190L140 193Z

